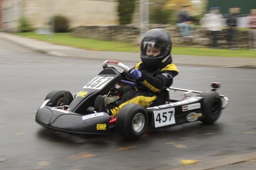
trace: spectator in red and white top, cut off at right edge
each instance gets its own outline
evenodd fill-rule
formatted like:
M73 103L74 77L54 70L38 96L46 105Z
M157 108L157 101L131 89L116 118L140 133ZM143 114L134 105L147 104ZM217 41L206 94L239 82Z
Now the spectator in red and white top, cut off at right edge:
M256 9L252 9L249 18L250 46L251 50L256 50Z

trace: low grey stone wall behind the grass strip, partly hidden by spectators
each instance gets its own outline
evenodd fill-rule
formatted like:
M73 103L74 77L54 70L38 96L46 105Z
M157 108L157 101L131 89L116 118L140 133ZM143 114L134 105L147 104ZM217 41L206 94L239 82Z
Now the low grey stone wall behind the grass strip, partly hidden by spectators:
M194 28L192 36L188 41L182 41L179 27L174 25L151 24L149 29L162 28L170 33L172 42L176 46L195 46L195 47L211 47L210 32L203 28ZM91 38L108 41L120 41L138 44L141 36L140 29L137 25L123 26L80 26L73 30L74 37ZM222 48L228 48L227 30L219 32L219 45ZM248 31L237 30L235 47L249 48Z

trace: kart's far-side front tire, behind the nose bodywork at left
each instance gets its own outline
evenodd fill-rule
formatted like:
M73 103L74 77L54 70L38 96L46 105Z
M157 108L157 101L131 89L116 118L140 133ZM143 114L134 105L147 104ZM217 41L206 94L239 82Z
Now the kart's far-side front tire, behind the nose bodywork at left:
M47 106L56 107L63 105L63 97L65 90L53 90L47 94L45 100L50 99L50 103Z

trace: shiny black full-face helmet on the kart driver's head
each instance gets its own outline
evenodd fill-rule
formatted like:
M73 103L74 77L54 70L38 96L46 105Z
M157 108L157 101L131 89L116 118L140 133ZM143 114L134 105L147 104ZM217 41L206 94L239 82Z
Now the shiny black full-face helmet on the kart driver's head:
M147 55L148 47L159 47L161 53L157 56ZM140 42L140 58L146 68L158 68L172 63L172 42L170 35L163 29L152 29L146 32Z

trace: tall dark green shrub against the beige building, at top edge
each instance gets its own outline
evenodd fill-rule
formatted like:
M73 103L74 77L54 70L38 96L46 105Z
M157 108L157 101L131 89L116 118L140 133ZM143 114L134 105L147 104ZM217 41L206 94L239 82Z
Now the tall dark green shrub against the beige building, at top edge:
M134 9L135 0L119 0L118 13L120 25L127 25L131 23Z

